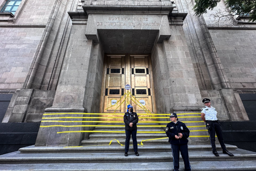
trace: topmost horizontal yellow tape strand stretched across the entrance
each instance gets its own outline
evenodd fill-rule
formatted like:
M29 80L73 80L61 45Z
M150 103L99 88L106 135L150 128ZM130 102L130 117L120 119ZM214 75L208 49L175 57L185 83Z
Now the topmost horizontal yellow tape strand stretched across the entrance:
M124 113L44 113L43 115L66 115L66 114L80 114L80 115L124 115ZM201 114L201 113L177 113L177 115L190 115L190 114ZM155 114L155 113L137 113L137 115L168 115L170 114Z

